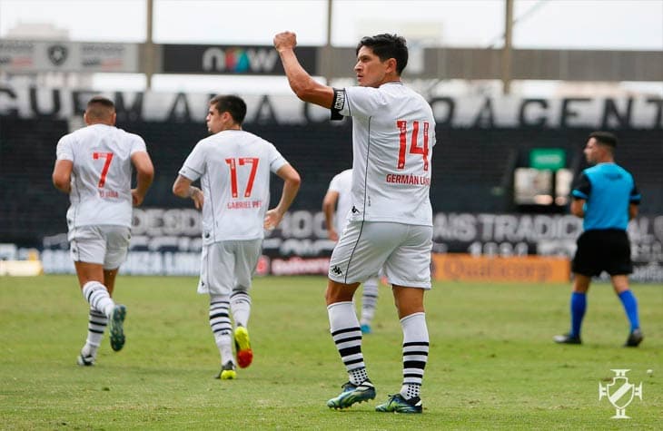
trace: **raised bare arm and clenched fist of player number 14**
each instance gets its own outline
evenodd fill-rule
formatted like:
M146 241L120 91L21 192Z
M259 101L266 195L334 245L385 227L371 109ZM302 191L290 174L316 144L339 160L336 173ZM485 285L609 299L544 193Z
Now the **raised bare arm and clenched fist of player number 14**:
M274 36L274 47L281 56L281 62L288 83L292 91L304 102L315 103L323 108L331 108L334 98L333 88L316 82L307 73L294 54L297 45L297 35L292 32L283 32Z

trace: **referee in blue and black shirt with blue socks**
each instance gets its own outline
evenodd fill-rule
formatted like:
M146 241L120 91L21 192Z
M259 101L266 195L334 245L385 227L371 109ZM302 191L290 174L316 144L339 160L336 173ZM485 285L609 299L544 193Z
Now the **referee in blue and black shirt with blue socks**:
M585 145L585 158L594 166L582 171L573 186L571 213L581 217L583 232L573 258L571 329L555 336L560 344L580 344L580 326L587 309L587 292L593 276L604 270L624 306L630 331L625 347L638 347L643 335L638 318L638 301L628 288L633 272L628 241L628 220L638 215L640 193L633 176L615 163L617 137L609 132L592 132Z

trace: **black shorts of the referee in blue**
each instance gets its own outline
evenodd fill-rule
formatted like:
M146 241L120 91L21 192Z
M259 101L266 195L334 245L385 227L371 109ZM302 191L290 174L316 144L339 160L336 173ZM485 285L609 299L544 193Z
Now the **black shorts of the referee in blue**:
M612 275L633 272L630 242L626 230L586 230L580 234L571 270L587 277L606 271Z

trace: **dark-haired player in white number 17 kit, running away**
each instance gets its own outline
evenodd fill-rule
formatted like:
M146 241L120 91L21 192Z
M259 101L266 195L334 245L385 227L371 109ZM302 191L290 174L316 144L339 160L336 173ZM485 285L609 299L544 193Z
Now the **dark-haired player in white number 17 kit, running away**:
M262 253L264 229L274 229L281 222L300 186L299 173L271 142L242 131L245 116L246 103L240 97L213 97L207 113L207 130L213 134L196 144L173 184L176 196L191 198L203 211L198 293L210 296L210 327L222 365L217 378L222 379L236 377L236 364L243 368L252 363L249 290ZM284 186L279 204L267 211L271 172ZM202 190L192 186L198 179Z

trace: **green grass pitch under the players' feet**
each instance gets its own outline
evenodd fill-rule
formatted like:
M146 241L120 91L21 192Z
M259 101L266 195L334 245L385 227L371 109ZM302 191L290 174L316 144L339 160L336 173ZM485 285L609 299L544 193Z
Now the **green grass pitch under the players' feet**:
M374 411L401 387L388 287L363 342L378 397L335 411L325 403L347 375L329 335L325 279L255 279L253 364L225 381L213 378L219 357L196 282L118 277L126 345L113 352L106 334L96 366L77 367L87 309L74 276L0 277L0 429L663 429L661 285L632 287L645 340L622 348L627 319L609 285L589 291L585 344L558 346L569 285L435 283L424 413L410 416ZM599 401L615 368L642 383L628 420Z

